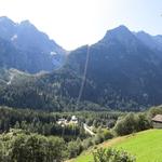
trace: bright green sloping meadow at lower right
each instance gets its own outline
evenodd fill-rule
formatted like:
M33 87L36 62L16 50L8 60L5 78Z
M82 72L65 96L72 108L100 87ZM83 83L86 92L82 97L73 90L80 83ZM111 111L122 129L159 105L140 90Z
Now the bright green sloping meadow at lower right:
M124 149L136 157L137 162L162 162L162 130L149 130L134 135L118 137L98 145L98 148ZM83 152L71 162L92 162L92 151Z

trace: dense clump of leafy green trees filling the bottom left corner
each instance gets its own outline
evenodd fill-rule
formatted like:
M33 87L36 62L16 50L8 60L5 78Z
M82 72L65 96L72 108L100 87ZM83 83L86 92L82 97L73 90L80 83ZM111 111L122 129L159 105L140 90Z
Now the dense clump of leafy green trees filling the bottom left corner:
M21 131L0 135L2 162L60 162L65 158L65 141L59 137L45 137Z

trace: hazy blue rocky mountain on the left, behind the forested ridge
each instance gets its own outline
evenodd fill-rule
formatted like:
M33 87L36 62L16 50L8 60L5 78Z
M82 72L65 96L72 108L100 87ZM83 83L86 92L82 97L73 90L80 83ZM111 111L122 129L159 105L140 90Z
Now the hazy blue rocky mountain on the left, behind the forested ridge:
M5 57L5 60L0 58L6 67L17 68L19 64L19 70L39 72L59 68L64 63L66 51L28 21L16 24L8 17L0 17L0 38L1 42L4 40L13 46L14 51L17 51L13 56L6 54L9 57ZM5 45L1 46L0 53L4 51L8 51ZM22 53L23 59L16 53ZM15 58L11 62L14 66L10 66L10 57Z

